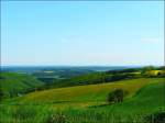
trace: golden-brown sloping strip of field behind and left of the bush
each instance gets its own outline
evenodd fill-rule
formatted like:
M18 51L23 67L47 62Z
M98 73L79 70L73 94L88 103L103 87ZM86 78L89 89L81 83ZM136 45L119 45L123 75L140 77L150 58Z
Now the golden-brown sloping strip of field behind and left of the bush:
M140 78L131 80L121 80L118 82L100 83L67 87L58 89L50 89L44 91L36 91L19 98L22 103L54 103L66 105L69 104L85 104L87 103L102 103L107 99L107 94L117 89L122 88L129 92L128 97L133 96L140 88L148 83L162 82L163 78ZM63 105L65 105L63 103Z

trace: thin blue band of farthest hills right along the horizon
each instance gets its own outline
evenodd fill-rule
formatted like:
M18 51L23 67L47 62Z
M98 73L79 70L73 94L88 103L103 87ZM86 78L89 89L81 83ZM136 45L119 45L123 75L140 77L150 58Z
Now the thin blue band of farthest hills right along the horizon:
M26 72L26 74L32 74L35 71L43 71L43 70L107 71L107 70L117 70L117 69L124 69L124 68L131 68L131 67L125 67L125 66L1 66L2 71L14 71L14 72Z

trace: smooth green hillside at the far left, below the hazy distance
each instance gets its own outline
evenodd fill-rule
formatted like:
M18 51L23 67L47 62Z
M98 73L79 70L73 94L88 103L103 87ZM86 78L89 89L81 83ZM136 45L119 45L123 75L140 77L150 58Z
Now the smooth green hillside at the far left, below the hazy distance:
M12 98L25 92L33 91L35 88L43 86L32 76L16 72L0 74L0 93L1 98Z

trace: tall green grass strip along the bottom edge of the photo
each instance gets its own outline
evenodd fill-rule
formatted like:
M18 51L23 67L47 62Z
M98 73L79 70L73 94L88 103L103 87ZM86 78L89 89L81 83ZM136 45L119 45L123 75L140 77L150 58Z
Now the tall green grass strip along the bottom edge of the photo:
M114 114L113 112L74 109L52 111L43 105L6 105L1 107L0 123L140 123L139 115Z

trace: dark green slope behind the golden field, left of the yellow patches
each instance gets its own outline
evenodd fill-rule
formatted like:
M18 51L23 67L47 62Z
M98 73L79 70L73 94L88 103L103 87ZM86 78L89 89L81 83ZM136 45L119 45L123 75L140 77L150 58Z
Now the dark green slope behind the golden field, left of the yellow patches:
M129 74L128 72L116 74L116 72L113 74L113 72L95 71L95 72L72 77L64 80L54 80L53 87L62 88L62 87L74 87L74 86L85 86L85 85L97 85L97 83L105 83L105 82L113 82L123 79L138 78L135 77L136 75L132 75L130 72Z

